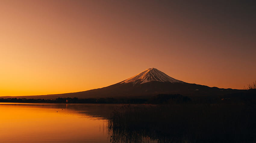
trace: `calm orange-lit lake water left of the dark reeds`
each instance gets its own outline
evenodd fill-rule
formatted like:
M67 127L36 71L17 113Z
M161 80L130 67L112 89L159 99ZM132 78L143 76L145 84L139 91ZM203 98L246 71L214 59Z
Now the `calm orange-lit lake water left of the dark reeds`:
M0 142L110 142L108 104L0 103Z

